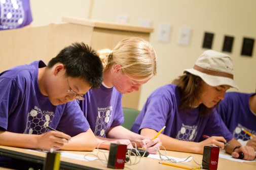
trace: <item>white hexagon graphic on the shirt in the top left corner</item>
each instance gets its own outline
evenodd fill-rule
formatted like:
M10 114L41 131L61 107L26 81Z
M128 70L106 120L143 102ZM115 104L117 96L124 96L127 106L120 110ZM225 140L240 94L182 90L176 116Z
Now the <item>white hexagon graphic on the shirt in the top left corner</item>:
M24 9L20 0L0 0L1 22L6 26L16 27L24 21Z

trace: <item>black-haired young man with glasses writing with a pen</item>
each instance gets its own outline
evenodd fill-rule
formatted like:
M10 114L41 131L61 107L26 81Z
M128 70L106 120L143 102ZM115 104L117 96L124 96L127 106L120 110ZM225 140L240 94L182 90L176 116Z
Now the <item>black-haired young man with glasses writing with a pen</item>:
M0 145L93 150L96 138L75 99L100 86L103 66L87 45L72 44L48 65L34 61L0 74ZM48 125L57 131L47 129ZM71 139L71 141L70 141ZM0 166L10 158L0 156ZM14 165L15 163L10 163ZM21 164L17 164L21 167ZM16 166L16 167L17 167Z

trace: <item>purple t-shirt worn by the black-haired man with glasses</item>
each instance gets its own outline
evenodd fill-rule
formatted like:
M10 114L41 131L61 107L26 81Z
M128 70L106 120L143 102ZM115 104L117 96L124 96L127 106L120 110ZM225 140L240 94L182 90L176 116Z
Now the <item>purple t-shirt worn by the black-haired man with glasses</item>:
M43 134L49 124L70 136L90 126L78 102L54 106L39 89L38 71L43 61L19 65L0 73L0 130L20 134ZM10 158L0 156L0 166Z

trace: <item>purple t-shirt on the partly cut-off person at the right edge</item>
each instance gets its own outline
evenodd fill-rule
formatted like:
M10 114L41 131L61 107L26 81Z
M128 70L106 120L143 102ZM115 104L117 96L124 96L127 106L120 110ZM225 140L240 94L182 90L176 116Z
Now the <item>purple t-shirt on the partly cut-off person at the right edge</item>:
M249 98L253 95L255 93L227 92L218 107L218 113L236 140L247 141L251 138L241 128L256 136L256 114L249 107Z

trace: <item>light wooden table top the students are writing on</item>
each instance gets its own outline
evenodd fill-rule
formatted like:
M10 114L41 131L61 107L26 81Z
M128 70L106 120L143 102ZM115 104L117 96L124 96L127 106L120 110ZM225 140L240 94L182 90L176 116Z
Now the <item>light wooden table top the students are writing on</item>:
M78 152L78 151L64 151L64 152L86 155L86 154L97 154L99 151L95 149L93 152ZM164 153L164 151L161 151L161 153ZM108 152L105 152L105 154L106 154L106 157L108 158ZM28 149L7 147L7 146L0 146L0 155L42 163L42 164L46 157L45 152L34 152ZM201 163L201 160L203 157L202 155L199 155L199 154L174 152L174 151L167 151L167 155L172 157L178 157L178 158L186 158L189 156L193 156L194 160L198 163ZM88 156L93 157L92 155L88 155ZM103 154L99 154L99 156L100 158L104 159ZM134 158L135 158L134 156L131 156L131 160L134 161ZM83 161L83 160L77 160L77 159L72 159L67 157L61 157L60 160L61 160L60 167L63 169L112 169L112 168L107 168L106 163L103 163L100 160ZM140 162L138 164L128 165L126 163L124 169L147 169L147 170L181 169L178 167L159 164L158 163L159 161L160 160L157 160L157 159L144 157L140 159ZM187 167L198 166L193 161L193 159L186 163L178 163L178 165L187 166ZM217 169L218 170L256 169L256 162L237 162L237 161L219 158Z

